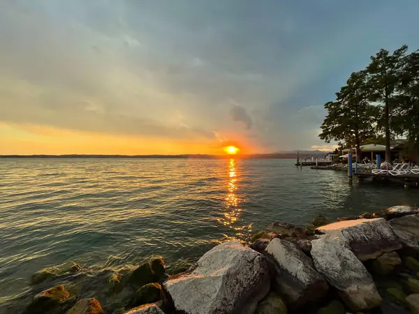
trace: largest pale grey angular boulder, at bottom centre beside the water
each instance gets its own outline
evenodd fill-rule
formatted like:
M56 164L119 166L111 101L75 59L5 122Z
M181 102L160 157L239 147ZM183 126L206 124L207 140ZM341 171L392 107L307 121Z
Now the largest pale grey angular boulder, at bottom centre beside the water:
M205 253L190 274L170 278L163 287L175 310L185 314L254 313L270 290L267 258L229 241Z

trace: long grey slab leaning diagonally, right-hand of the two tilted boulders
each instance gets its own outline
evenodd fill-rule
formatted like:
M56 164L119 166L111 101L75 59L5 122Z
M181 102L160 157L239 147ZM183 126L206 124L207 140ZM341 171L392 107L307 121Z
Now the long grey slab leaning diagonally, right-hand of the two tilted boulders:
M311 241L317 271L335 287L353 311L380 306L381 297L372 276L355 254L327 237Z

